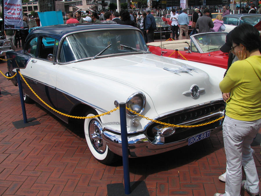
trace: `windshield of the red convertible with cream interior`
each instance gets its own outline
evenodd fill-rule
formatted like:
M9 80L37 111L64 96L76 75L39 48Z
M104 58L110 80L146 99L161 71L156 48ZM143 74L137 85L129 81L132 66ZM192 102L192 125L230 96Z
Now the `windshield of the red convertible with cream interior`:
M226 35L227 33L206 33L194 35L193 38L203 52L213 52L225 44Z

